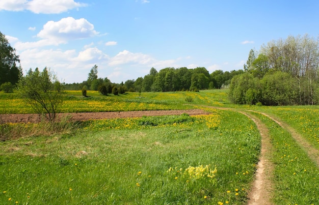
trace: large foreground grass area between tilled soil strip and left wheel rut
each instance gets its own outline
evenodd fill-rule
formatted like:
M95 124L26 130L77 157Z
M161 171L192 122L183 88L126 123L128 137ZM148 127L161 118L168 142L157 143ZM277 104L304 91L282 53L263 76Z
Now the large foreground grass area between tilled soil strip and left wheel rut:
M2 142L0 203L245 204L260 135L243 114L210 111Z

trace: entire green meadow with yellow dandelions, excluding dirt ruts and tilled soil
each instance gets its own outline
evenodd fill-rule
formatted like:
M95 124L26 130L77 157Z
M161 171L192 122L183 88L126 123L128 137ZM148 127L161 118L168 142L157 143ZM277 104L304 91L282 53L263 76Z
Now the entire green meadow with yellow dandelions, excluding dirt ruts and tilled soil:
M67 91L62 111L201 107L210 114L90 120L50 134L34 132L44 130L41 123L10 125L33 131L0 142L1 204L246 204L261 142L237 110L275 116L319 150L318 106L231 105L225 90L88 95ZM16 93L0 93L0 103L2 113L33 112ZM253 114L270 130L273 203L319 204L318 165L286 130Z

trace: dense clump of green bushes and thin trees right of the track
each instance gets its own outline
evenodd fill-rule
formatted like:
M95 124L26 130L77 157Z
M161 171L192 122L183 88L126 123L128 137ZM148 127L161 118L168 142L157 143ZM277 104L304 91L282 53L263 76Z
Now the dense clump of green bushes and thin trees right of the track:
M318 65L318 39L273 40L259 52L250 50L245 72L231 80L229 98L236 104L318 104Z

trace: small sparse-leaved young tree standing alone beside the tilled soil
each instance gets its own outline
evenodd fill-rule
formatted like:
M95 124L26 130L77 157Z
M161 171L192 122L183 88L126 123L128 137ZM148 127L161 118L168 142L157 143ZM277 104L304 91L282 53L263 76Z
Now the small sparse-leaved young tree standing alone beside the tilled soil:
M63 84L47 68L42 72L30 69L18 83L18 91L26 103L47 120L53 122L63 103Z

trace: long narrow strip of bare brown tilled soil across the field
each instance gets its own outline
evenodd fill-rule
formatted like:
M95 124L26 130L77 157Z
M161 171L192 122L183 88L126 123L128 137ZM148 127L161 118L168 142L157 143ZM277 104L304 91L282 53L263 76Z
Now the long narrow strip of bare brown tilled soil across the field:
M189 110L145 110L145 111L120 111L120 112L79 112L79 113L59 113L57 119L70 117L70 121L97 120L110 118L135 118L141 116L158 116L187 113L189 115L209 114L201 109ZM43 116L40 114L0 114L2 123L38 123Z

